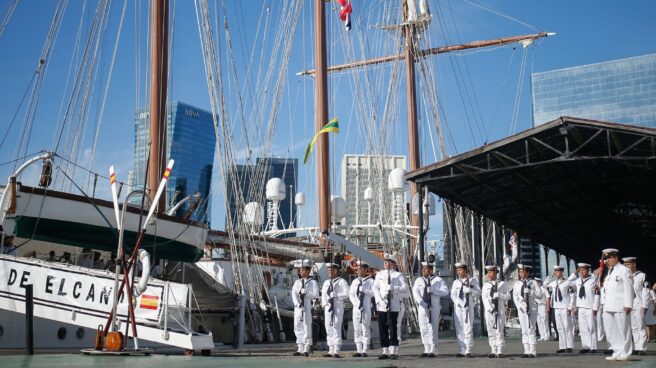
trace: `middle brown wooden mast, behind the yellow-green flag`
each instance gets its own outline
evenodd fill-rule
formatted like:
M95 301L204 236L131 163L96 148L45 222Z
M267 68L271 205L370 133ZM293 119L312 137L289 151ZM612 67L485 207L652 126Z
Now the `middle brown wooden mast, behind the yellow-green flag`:
M324 0L314 2L314 51L316 58L315 80L315 127L318 132L328 123L328 73L326 71L326 11ZM330 162L328 161L328 134L321 134L317 140L317 184L319 190L319 232L327 232L330 227Z

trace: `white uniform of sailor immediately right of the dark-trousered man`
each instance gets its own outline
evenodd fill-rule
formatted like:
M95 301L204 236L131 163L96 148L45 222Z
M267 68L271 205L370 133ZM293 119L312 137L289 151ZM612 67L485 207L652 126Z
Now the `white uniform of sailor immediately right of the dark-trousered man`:
M439 276L417 277L412 296L417 304L419 330L424 353L435 353L440 327L440 298L449 295L446 282Z

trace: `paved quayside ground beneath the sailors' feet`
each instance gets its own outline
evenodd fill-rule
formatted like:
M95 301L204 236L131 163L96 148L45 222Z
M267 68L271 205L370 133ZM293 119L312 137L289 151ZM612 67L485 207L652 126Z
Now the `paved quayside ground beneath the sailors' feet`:
M378 360L377 355L380 350L371 351L369 358L353 358L353 344L345 344L343 359L323 358L323 352L315 352L308 358L299 358L291 356L294 351L294 344L262 344L247 345L245 349L234 350L227 346L217 346L217 349L210 357L192 356L185 357L180 353L177 354L155 354L148 357L116 357L116 356L86 356L77 353L47 353L37 350L34 356L11 355L22 354L19 351L5 351L0 354L10 354L2 356L2 366L9 367L135 367L139 368L165 368L165 367L257 367L257 368L277 368L277 367L307 367L311 365L315 368L320 367L435 367L436 365L458 365L460 367L485 367L485 368L513 368L513 367L577 367L577 368L602 368L602 367L631 367L647 368L656 366L656 343L649 343L644 356L633 356L626 362L609 362L604 359L602 354L556 354L558 343L555 341L546 341L538 343L538 357L536 359L522 359L522 344L518 338L508 338L506 340L506 358L489 359L487 358L488 344L487 338L476 338L474 346L474 357L471 359L456 358L456 342L453 338L441 339L439 344L440 355L438 358L419 358L417 355L423 350L419 338L411 338L401 344L401 357L398 360ZM600 347L605 348L606 343L600 343ZM350 349L349 349L350 348ZM575 343L575 350L580 348L578 340Z

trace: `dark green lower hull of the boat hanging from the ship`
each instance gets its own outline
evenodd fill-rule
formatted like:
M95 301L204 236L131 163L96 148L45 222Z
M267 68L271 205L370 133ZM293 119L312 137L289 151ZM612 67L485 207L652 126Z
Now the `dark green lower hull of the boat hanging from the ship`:
M71 245L115 252L118 234L111 228L78 222L21 216L16 218L16 236L45 242ZM123 235L127 254L137 241L137 233L126 231ZM196 262L203 251L193 245L146 233L141 248L152 257L182 262Z

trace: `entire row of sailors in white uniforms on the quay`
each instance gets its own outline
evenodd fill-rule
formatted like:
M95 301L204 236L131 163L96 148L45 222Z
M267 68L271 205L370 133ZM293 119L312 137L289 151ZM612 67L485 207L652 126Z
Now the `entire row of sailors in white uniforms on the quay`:
M589 264L579 263L581 276L573 273L569 278L563 276L561 266L554 267L554 275L545 279L530 278L530 267L519 265L519 280L513 286L512 298L518 309L522 330L524 358L536 357L536 330L547 339L548 314L553 308L559 336L557 353L572 352L574 327L572 313L578 312L579 330L583 349L581 353L596 351L597 316L603 311L603 324L606 326L613 355L609 360L626 360L633 349L638 354L646 349L646 328L644 312L647 302L644 295L648 289L644 274L635 271L635 258L625 258L625 264L633 265L633 271L618 262L616 249L604 250L608 271L605 283L593 275ZM490 358L502 358L505 345L505 308L511 298L510 290L504 281L498 280L498 267L486 266L486 282L481 288L478 281L468 274L467 265L456 263L457 279L451 291L446 282L433 275L431 264L422 263L422 277L415 280L408 289L405 277L396 271L396 257L385 254L384 270L374 279L369 274L367 264L358 262L358 278L351 286L338 277L339 265L329 268L329 279L321 289L321 306L324 308L324 321L328 352L325 357L339 358L342 345L342 321L344 301L348 298L353 304L354 340L357 352L354 357L367 357L370 343L371 301L375 301L382 354L379 359L397 359L400 326L403 319L403 299L412 295L418 311L418 324L424 352L421 357L435 357L438 343L438 324L440 320L440 299L449 296L454 304L453 321L458 343L458 357L472 357L474 345L473 298L480 297L485 311L485 323L490 345ZM294 332L296 334L296 356L309 356L312 344L312 300L319 298L317 282L309 277L311 264L305 261L300 270L301 277L294 283L292 298L294 302ZM570 291L574 290L575 295ZM635 298L634 298L635 295ZM633 311L633 312L632 312ZM630 313L630 314L629 314ZM633 327L633 341L631 336ZM627 340L628 339L628 340Z

